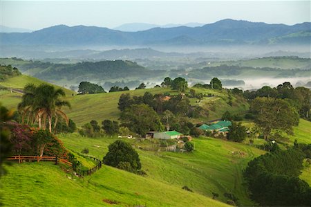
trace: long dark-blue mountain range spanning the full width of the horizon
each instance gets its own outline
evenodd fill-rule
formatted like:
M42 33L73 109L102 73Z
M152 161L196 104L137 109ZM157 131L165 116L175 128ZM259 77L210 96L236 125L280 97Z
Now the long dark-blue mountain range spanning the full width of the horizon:
M178 26L122 32L95 26L52 26L32 33L0 33L3 45L49 46L219 46L310 45L311 23L288 26L224 19L199 27Z

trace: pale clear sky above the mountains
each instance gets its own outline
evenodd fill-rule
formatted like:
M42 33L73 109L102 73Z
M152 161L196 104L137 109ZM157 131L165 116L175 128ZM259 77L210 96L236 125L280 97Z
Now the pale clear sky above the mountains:
M0 24L38 30L58 24L213 23L221 19L297 24L311 21L310 1L3 1Z

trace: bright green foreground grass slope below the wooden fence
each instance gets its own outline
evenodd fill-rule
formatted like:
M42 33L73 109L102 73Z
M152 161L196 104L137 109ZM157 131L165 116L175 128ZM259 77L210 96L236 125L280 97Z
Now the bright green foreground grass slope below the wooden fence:
M70 176L53 163L14 164L7 169L8 174L1 178L0 190L0 201L5 206L111 206L103 199L120 202L114 206L187 206L189 202L193 206L226 206L108 166L91 177L97 186L87 185L89 177L69 179Z

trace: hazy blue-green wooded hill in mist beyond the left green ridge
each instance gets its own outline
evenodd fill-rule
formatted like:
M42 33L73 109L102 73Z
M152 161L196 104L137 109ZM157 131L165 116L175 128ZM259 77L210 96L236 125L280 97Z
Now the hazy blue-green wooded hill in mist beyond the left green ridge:
M79 84L89 80L145 80L164 75L165 71L151 71L136 62L110 60L100 62L78 62L76 64L53 64L50 62L28 61L17 58L0 60L0 64L12 64L20 71L36 78L57 84ZM63 85L63 84L62 84Z

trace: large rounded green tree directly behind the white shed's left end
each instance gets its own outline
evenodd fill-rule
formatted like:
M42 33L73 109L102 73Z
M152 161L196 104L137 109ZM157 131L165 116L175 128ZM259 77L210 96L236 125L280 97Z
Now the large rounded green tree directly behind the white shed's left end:
M122 125L129 127L132 132L145 136L150 130L162 131L163 126L156 111L145 104L131 105L122 111Z

